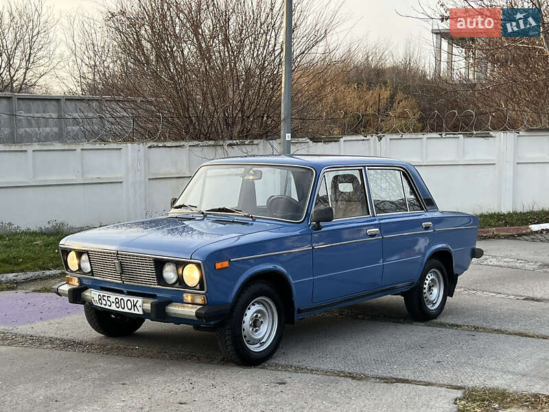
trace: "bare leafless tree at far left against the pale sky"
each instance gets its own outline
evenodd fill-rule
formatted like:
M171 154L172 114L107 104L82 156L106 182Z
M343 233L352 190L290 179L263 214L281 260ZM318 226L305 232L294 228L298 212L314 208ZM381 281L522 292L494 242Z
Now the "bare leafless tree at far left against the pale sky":
M0 91L32 93L55 69L57 23L43 0L0 5Z

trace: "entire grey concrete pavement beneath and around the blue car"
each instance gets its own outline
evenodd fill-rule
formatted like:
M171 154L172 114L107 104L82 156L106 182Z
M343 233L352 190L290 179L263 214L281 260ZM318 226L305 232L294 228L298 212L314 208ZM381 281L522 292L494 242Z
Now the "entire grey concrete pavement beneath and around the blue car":
M44 410L124 409L119 398L130 393L139 399L136 407L143 408L246 410L255 405L292 410L307 402L314 410L445 411L455 410L453 400L459 396L448 387L549 393L549 268L544 266L549 244L489 240L479 245L488 260L460 278L456 296L435 322L409 321L401 297L368 301L288 327L279 352L263 369L225 365L214 336L189 327L146 322L134 336L108 339L90 330L81 313L70 314L74 307L56 306L58 314L49 319L35 313L43 310L31 311L0 326L19 334L13 341L4 336L0 385L17 369L20 379L10 398L0 398L0 409L5 409L2 402L12 407L33 385L41 388L38 399ZM5 296L0 294L0 313L19 312L25 305L43 308L54 300L58 305L60 299L49 294L10 298L12 304L5 308ZM37 303L40 299L43 304ZM34 306L29 306L31 300ZM21 334L34 337L25 343ZM33 363L40 373L27 375ZM132 377L123 389L117 386L119 376ZM172 376L176 385L163 389L161 382ZM193 376L194 391L185 390L188 376ZM286 385L276 383L282 381ZM77 382L75 390L84 398L95 394L95 402L77 407L65 398L69 403L60 406L54 393L60 393L63 382ZM204 391L211 404L200 398L189 403L190 393ZM257 393L260 400L254 402ZM27 410L36 409L36 404L28 405Z

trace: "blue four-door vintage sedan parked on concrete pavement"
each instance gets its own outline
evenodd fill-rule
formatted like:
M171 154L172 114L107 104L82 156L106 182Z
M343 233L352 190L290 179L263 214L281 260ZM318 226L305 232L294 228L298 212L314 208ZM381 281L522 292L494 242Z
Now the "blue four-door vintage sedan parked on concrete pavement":
M482 255L477 232L404 161L236 157L200 166L166 216L64 238L54 290L100 334L185 323L257 365L286 323L366 299L402 295L412 319L435 319Z

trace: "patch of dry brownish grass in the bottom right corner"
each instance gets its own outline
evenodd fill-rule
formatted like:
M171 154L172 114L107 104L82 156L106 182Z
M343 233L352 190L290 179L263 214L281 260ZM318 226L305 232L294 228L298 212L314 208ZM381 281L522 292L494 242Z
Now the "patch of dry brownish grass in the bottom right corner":
M459 412L495 412L510 408L525 411L548 411L549 395L541 393L515 393L493 388L467 389L456 400Z

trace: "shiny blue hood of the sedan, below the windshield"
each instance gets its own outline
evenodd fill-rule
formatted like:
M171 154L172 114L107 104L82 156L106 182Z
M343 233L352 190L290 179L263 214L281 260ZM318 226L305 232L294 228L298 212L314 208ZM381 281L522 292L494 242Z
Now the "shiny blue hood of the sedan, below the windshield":
M224 216L162 217L82 231L67 236L61 241L61 245L189 259L196 249L212 242L281 226L277 222L240 220Z

